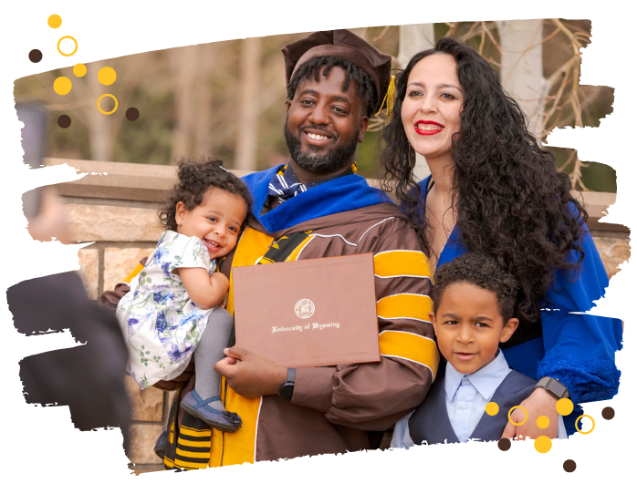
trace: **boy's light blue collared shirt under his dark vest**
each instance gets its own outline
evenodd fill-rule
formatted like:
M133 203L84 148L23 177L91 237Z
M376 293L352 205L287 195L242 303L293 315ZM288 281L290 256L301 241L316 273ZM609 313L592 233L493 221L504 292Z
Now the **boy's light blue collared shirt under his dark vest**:
M466 442L485 413L486 404L496 393L496 389L508 376L511 369L506 364L505 355L498 350L493 362L473 374L461 374L447 362L444 373L444 401L449 422L454 427L456 437ZM426 399L426 398L425 398ZM500 410L503 412L503 410ZM506 413L508 411L506 410ZM409 449L413 446L409 435L409 418L403 417L393 429L391 449ZM567 439L564 420L559 416L558 439Z

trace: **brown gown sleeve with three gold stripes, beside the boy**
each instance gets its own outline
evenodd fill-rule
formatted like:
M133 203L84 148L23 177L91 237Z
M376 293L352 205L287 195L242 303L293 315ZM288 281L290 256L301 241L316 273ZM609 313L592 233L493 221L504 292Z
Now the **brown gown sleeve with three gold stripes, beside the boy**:
M423 402L437 371L428 316L432 282L405 221L383 222L359 249L375 254L381 362L298 368L292 403L319 410L336 425L386 430Z

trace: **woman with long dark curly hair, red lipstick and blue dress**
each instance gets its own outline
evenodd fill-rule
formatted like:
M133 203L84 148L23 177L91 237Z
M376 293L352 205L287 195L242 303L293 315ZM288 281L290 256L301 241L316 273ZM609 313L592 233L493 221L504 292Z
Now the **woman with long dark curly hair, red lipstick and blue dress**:
M421 236L431 272L464 252L496 259L520 284L517 338L500 345L509 365L538 379L522 405L524 425L505 437L556 437L559 397L576 408L611 399L621 372L621 321L586 314L608 287L569 177L528 132L517 102L473 48L442 38L397 77L383 131L384 190L392 190ZM415 183L415 153L431 175ZM541 388L540 388L541 387ZM506 413L506 411L505 411ZM549 418L539 429L533 417ZM521 409L515 422L524 420Z

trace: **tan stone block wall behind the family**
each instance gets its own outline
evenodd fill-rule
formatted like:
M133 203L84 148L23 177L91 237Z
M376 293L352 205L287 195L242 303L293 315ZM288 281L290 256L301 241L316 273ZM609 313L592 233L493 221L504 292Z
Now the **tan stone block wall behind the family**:
M71 239L91 242L78 250L79 273L90 298L112 289L148 255L162 235L156 211L174 183L176 167L82 160L46 160L47 166L67 163L87 175L57 185L66 202ZM242 176L245 172L235 172ZM630 230L600 222L617 195L584 192L590 214L589 228L606 272L611 278L631 257ZM126 387L132 403L131 469L162 469L153 452L168 415L172 393L155 388L144 391L129 376Z

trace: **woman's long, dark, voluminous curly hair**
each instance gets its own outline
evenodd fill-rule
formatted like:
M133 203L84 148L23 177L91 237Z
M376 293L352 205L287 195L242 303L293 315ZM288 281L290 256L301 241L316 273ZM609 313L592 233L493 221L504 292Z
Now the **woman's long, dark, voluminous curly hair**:
M514 275L521 289L517 317L538 320L554 272L578 273L584 251L579 240L588 214L571 195L569 176L555 168L555 157L540 149L527 130L517 102L500 77L473 48L442 38L418 53L397 77L392 120L383 130L383 190L392 190L430 251L431 225L423 208L423 190L409 165L409 141L402 127L402 101L412 68L424 57L454 57L464 92L460 131L452 140L453 204L461 239L469 252L481 252ZM580 254L577 262L571 250Z

